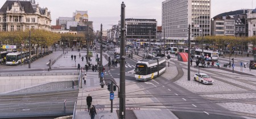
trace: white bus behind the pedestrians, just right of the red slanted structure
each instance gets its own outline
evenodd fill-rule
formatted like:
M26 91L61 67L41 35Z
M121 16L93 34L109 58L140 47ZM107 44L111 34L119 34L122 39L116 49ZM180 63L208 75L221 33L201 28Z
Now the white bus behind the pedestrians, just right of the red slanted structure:
M202 56L202 49L195 50L195 57L197 56ZM214 52L213 50L204 50L203 56L205 60L218 61L218 52Z

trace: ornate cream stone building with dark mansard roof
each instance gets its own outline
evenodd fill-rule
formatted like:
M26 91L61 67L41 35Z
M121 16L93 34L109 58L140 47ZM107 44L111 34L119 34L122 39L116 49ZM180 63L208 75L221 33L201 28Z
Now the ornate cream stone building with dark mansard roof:
M51 31L51 12L34 1L6 1L0 9L0 32L43 29Z

